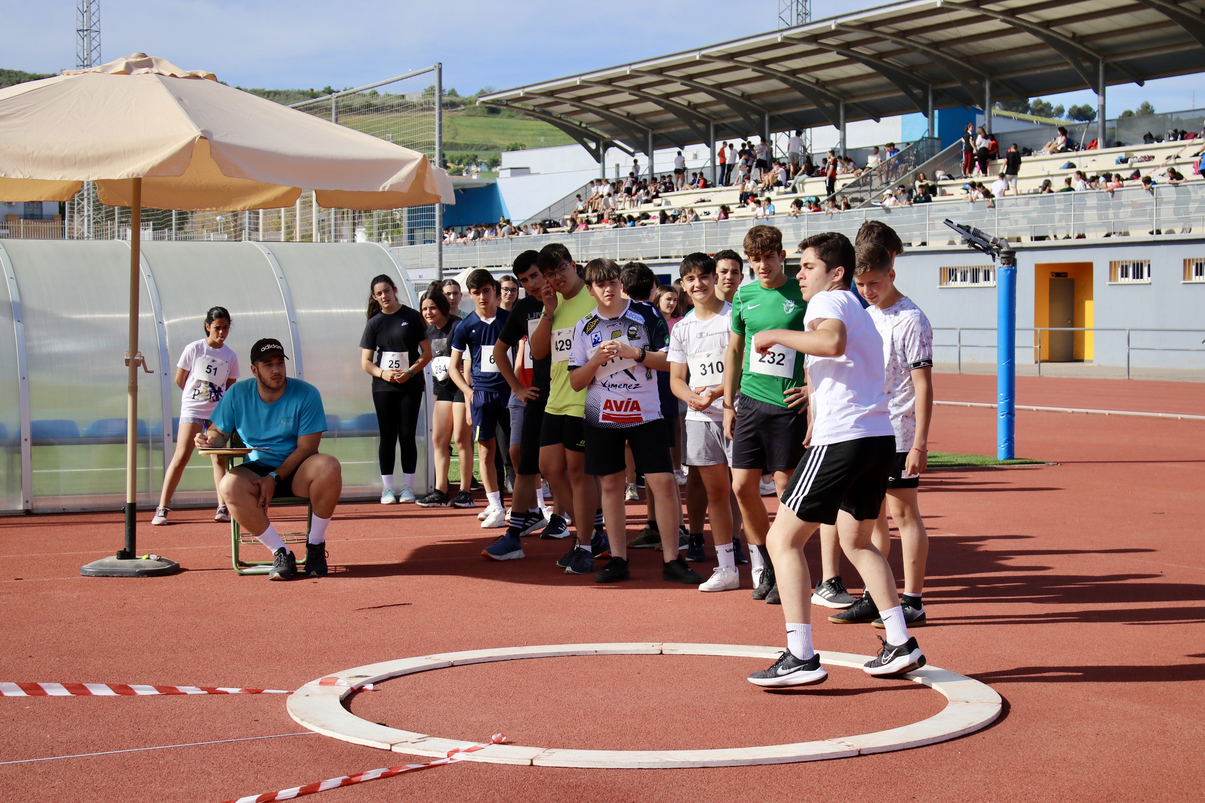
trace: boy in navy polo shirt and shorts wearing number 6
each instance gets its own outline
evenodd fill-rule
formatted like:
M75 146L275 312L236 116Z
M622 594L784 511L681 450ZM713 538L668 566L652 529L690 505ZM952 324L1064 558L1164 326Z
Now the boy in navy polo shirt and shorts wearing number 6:
M464 392L465 398L471 398L469 414L472 427L477 431L478 456L481 459L481 480L486 486L486 498L489 503L486 508L486 518L481 522L484 529L505 527L506 509L502 507L502 494L498 490L498 470L494 466L494 451L498 448L498 438L494 433L498 425L510 427L510 412L506 403L510 400L511 388L506 384L506 378L498 371L494 361L494 341L506 325L509 312L498 306L499 284L489 271L477 268L469 273L465 282L469 285L469 296L475 305L474 311L465 315L460 325L452 335L452 361L448 365L448 376ZM462 355L469 352L471 365L472 385L464 379L460 370ZM472 456L460 455L460 471L472 471ZM468 503L459 501L460 495L452 500L455 507L472 507L472 500Z

